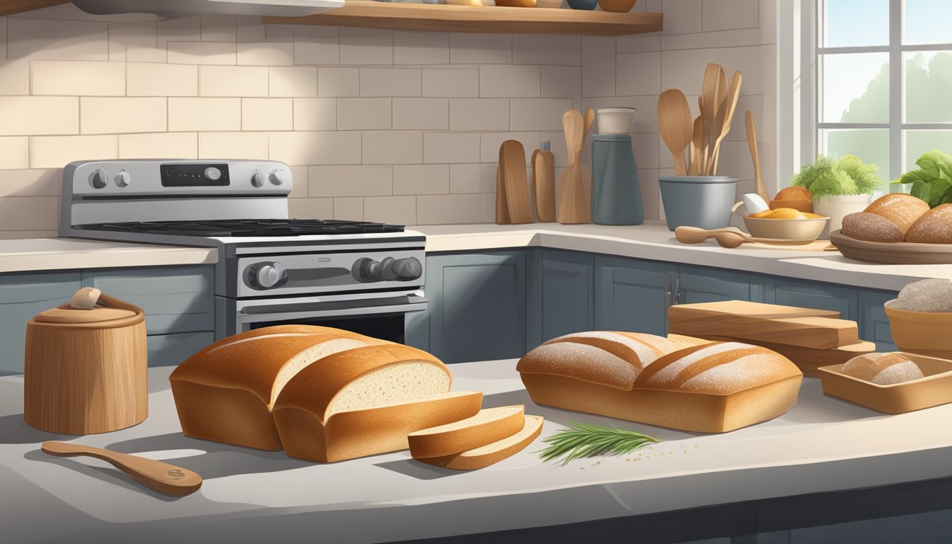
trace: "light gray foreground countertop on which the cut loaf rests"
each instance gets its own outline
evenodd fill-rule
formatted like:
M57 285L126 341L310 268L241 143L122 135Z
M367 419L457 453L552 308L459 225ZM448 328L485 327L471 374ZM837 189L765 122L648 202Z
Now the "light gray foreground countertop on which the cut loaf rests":
M0 378L3 540L167 544L205 538L262 542L280 535L290 542L380 542L611 524L627 516L650 520L657 519L652 514L672 512L663 518L665 527L673 522L700 531L708 526L692 517L696 509L751 504L747 501L769 504L775 497L819 493L810 495L812 503L803 503L817 504L823 493L952 481L939 479L952 476L952 404L885 415L825 396L818 380L806 378L797 405L783 416L732 433L705 435L536 406L514 360L457 364L451 370L453 389L485 392L487 407L525 404L526 413L545 416L543 436L573 417L622 425L663 442L638 453L576 460L565 467L538 460L544 446L540 440L474 472L431 467L407 452L313 464L281 452L182 435L169 391L169 367L149 369L149 418L144 423L84 437L43 433L23 423L23 376L7 376ZM167 459L202 474L205 482L195 494L171 498L106 463L41 453L39 443L50 439ZM906 503L877 504L902 509ZM783 509L783 516L809 512L788 510ZM777 517L774 512L772 519ZM757 523L770 518L760 514ZM651 525L634 527L648 531ZM550 541L558 541L571 533L558 529L548 534Z

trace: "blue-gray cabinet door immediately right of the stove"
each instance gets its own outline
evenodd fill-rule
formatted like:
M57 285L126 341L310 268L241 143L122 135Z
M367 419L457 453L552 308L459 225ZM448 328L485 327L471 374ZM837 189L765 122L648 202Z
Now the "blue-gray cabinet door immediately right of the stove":
M429 350L446 363L526 354L526 252L426 257Z

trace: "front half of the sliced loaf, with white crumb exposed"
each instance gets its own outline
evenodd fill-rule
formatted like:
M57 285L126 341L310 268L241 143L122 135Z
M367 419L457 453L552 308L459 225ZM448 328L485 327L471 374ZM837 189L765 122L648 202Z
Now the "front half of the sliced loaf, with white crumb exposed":
M272 414L293 457L328 462L406 450L407 434L479 412L483 394L449 393L450 383L446 365L429 353L366 346L297 373Z

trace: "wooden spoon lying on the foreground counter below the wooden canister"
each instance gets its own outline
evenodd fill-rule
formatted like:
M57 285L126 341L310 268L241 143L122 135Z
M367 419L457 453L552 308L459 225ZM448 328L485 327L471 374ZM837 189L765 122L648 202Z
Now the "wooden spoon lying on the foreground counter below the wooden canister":
M197 473L138 455L110 452L102 448L68 444L66 442L44 442L40 449L57 457L89 455L102 459L111 463L120 471L129 474L137 482L149 486L157 492L172 496L184 496L194 493L202 487L202 476Z

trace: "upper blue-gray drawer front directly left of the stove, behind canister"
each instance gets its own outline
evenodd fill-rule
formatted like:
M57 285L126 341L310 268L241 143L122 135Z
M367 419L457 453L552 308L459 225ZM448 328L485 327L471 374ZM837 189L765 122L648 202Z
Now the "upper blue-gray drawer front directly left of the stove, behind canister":
M215 330L211 266L84 270L83 285L142 308L147 334Z

